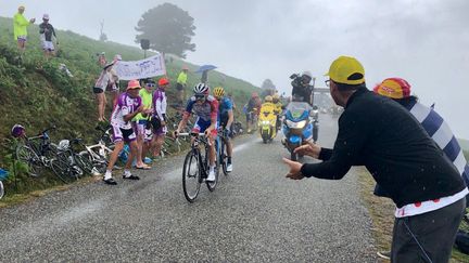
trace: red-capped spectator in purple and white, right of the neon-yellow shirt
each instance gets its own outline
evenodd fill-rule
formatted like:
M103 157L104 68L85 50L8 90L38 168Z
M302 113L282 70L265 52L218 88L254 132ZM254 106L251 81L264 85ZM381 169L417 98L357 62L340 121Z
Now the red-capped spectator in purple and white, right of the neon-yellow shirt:
M159 80L159 88L153 93L153 116L152 116L152 127L153 127L153 139L152 148L153 157L160 155L161 147L164 143L164 137L167 132L166 127L166 88L169 86L167 78L161 78Z

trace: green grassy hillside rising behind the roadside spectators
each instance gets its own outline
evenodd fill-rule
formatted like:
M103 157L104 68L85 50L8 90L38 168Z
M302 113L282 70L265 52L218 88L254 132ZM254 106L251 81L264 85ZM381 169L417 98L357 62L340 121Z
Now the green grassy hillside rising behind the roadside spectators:
M60 25L54 25L60 28ZM58 57L45 61L37 25L28 28L29 38L23 62L18 61L13 26L10 18L0 17L0 167L8 167L5 156L11 153L10 129L14 123L26 127L29 135L55 124L53 141L80 136L91 140L97 122L92 86L100 74L96 54L105 52L107 60L121 54L124 61L140 60L142 50L113 42L100 42L72 31L58 31ZM58 68L65 64L73 74L69 78ZM168 77L175 82L182 66L188 65L189 86L200 79L192 71L198 68L179 60L166 65ZM257 88L218 71L210 74L212 86L223 84L242 105ZM169 89L168 103L174 102L175 89ZM110 105L110 104L109 104ZM107 111L111 108L107 107Z

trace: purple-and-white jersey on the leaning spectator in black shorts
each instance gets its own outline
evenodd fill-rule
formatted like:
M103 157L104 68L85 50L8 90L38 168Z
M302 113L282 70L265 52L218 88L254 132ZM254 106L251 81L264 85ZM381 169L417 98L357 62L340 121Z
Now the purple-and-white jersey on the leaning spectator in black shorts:
M124 130L132 129L130 121L125 121L124 116L135 113L140 105L140 96L132 98L127 92L122 93L111 115L111 124Z

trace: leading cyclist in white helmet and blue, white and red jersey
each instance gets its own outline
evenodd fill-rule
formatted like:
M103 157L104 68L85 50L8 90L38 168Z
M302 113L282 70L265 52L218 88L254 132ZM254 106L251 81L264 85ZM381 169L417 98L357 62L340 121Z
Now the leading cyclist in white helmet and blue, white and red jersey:
M217 136L217 116L218 116L218 101L210 95L210 88L205 83L199 83L193 88L194 95L189 98L182 120L179 122L174 135L177 136L179 131L182 130L190 115L193 113L198 116L192 132L204 132L210 142L210 172L206 181L215 181L215 137Z

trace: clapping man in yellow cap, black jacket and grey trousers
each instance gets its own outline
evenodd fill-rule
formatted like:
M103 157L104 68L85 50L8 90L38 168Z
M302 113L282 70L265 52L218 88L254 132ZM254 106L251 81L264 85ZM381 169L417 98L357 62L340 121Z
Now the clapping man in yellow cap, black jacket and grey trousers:
M284 159L287 177L340 180L365 166L396 206L391 261L448 262L468 194L457 169L407 109L366 88L357 60L340 56L327 76L344 107L334 147L296 148L322 162Z

